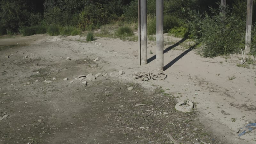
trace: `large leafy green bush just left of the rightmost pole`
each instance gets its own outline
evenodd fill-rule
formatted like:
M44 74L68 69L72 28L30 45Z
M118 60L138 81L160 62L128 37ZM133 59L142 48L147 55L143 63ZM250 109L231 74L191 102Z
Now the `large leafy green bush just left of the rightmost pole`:
M213 10L213 12L216 11ZM219 13L218 10L217 12ZM203 56L214 57L240 52L244 48L244 26L245 21L237 19L228 12L225 20L217 13L212 17L206 14L200 23L199 42L204 45Z

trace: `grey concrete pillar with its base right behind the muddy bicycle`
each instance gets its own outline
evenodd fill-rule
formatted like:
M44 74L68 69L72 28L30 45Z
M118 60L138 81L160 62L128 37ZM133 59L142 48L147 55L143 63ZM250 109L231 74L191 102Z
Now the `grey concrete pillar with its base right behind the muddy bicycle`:
M156 0L156 68L164 70L164 4Z

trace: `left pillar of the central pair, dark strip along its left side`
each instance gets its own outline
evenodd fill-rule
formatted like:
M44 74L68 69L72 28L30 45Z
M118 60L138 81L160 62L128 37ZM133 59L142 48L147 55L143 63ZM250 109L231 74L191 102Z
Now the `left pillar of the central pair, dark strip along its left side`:
M147 64L148 44L147 44L147 0L140 1L140 47L141 64Z

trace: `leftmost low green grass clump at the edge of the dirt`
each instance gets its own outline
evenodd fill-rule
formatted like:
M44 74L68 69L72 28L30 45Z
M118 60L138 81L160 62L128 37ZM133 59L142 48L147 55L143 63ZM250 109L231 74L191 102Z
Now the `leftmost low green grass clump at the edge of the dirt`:
M44 34L46 33L46 26L31 26L31 27L25 27L22 29L22 35L23 36L31 36L35 34Z

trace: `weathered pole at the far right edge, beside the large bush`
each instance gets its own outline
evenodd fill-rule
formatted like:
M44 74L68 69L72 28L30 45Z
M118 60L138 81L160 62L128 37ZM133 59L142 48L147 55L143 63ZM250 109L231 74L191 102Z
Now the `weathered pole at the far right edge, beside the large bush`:
M252 35L252 0L247 0L247 12L246 12L246 32L245 32L245 51L251 51L251 35Z

